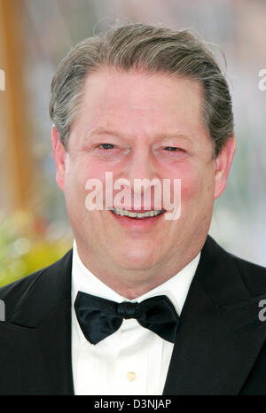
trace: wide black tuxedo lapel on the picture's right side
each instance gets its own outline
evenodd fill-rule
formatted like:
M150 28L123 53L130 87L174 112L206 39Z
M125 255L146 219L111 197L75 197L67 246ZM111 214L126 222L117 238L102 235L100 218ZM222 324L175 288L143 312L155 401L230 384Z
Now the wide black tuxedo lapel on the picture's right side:
M233 256L207 237L163 394L239 394L266 337Z

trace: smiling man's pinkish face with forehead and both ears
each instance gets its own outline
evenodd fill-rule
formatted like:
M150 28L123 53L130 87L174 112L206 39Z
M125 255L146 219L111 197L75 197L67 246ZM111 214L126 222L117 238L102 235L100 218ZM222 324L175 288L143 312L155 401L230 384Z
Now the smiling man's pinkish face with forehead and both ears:
M84 261L93 257L99 268L139 270L143 277L142 271L185 264L200 251L234 152L232 138L215 169L202 104L198 82L168 74L103 68L87 77L67 152L53 137L57 181ZM180 217L165 220L162 214L141 223L105 209L89 211L85 185L91 178L103 183L105 206L106 172L113 182L131 183L132 207L135 178L157 178L161 188L169 179L172 191L174 179L181 179Z

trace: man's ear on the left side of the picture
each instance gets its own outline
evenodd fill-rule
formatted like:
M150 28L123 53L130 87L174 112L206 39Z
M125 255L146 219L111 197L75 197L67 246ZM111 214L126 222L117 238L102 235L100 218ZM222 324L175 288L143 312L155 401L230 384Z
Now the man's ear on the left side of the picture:
M55 129L54 125L51 127L51 144L56 167L56 181L59 188L64 191L67 152L59 139L59 131Z

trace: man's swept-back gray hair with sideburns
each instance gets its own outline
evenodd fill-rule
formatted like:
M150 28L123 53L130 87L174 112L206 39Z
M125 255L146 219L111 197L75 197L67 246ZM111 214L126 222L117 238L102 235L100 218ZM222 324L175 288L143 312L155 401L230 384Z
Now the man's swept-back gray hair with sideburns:
M76 44L60 62L51 82L50 115L67 149L70 129L82 104L87 74L102 66L129 71L176 74L200 82L203 124L213 142L213 157L233 134L231 94L214 55L191 30L146 24L110 27Z

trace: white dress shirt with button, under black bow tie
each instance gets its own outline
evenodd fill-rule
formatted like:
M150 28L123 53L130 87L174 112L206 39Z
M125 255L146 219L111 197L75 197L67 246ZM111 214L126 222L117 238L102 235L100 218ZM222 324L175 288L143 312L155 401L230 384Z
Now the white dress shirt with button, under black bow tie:
M82 263L74 240L72 264L72 367L74 394L160 395L167 378L174 344L142 327L136 319L124 319L121 328L98 344L85 339L75 316L78 291L116 302L141 302L156 295L167 295L180 316L200 253L158 287L128 300L93 275Z

